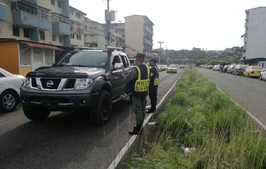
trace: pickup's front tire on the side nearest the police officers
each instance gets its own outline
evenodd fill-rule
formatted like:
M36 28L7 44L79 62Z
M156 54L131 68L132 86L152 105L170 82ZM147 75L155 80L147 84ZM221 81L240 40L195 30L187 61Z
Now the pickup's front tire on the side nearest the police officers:
M90 112L90 122L95 125L105 125L110 120L112 112L112 98L108 91L101 90L99 93L98 104Z

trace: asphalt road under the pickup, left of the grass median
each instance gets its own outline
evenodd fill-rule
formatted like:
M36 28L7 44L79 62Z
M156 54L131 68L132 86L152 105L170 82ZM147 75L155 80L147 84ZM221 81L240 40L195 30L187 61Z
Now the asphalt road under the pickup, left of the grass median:
M158 102L183 71L160 72ZM41 122L28 120L21 105L0 113L0 168L108 168L135 125L130 107L129 98L114 104L104 127L90 125L87 112L52 112Z

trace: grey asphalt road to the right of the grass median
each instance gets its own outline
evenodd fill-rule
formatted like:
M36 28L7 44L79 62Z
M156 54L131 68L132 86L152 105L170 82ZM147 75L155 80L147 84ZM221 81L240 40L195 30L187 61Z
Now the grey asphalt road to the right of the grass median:
M197 68L208 79L216 83L216 86L230 96L239 105L246 108L264 125L266 124L266 81L258 78L246 78L227 73L219 73L210 69Z

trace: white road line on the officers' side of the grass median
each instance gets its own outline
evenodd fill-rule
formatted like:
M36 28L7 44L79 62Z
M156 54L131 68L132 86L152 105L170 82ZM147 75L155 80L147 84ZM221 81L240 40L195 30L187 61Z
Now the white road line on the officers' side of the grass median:
M185 71L183 71L184 73ZM182 74L183 74L182 73ZM180 75L180 77L182 76L182 74ZM180 77L176 80L176 82L174 83L174 85L172 85L172 87L170 88L170 90L163 96L163 98L161 99L161 101L156 105L157 108L162 104L162 102L165 100L166 96L170 93L170 91L175 87L177 81L180 79ZM143 122L143 126L146 125L146 123L151 119L152 115L154 113L150 113L146 119ZM108 167L108 169L115 169L115 167L117 166L117 164L119 163L119 161L122 159L122 157L124 156L125 152L129 149L129 147L131 146L131 144L133 143L133 141L136 140L138 135L133 135L129 141L126 143L125 147L122 148L122 150L118 153L118 155L116 156L115 160L112 162L112 164Z

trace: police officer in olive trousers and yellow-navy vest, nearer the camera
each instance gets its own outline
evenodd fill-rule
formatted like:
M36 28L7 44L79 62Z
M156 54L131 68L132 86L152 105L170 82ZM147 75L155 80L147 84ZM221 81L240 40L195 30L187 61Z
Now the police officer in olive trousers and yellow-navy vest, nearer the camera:
M136 116L136 126L128 134L142 134L142 123L146 114L146 96L148 95L150 83L150 68L144 63L145 54L136 54L136 67L133 67L125 77L124 81L132 86L132 105Z

